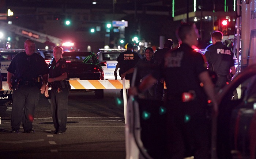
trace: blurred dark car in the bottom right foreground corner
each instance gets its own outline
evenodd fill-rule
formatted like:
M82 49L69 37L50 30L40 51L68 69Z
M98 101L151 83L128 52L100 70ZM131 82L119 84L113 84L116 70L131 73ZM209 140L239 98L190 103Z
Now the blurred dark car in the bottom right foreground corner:
M220 104L219 123L223 128L221 131L229 132L233 156L255 159L256 65L242 70L219 91L217 99Z

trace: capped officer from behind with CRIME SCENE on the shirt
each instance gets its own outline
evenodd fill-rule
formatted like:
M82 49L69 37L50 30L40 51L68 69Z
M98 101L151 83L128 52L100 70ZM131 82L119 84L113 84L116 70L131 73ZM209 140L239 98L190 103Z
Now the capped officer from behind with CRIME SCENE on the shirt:
M116 60L117 61L116 69L114 71L115 77L117 76L118 68L119 68L119 75L121 76L121 74L125 73L125 71L134 67L136 63L139 61L140 57L138 53L132 52L132 49L133 49L133 44L128 43L127 51L120 53L120 55L118 56ZM130 84L131 84L132 73L126 74L125 79L130 80ZM121 93L121 97L123 97L123 89L121 89L120 93Z

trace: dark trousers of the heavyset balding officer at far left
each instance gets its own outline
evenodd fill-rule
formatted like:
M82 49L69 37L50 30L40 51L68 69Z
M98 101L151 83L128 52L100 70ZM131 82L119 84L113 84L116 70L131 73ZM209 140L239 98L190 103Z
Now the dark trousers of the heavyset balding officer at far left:
M19 88L13 90L13 102L12 102L12 115L11 115L11 127L12 129L20 129L20 123L22 121L22 127L24 131L28 131L33 128L33 120L35 114L35 106L39 101L39 88L34 86L19 85Z

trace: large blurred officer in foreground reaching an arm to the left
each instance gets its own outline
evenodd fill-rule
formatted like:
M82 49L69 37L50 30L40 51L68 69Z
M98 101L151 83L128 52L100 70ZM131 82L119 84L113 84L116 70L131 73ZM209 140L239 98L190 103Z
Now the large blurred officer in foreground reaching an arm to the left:
M168 154L166 158L181 159L194 156L209 158L209 123L206 120L206 94L212 100L214 111L218 104L214 85L204 64L204 59L192 46L198 44L195 24L183 24L177 30L181 46L165 54L164 61L153 74L147 76L138 88L130 88L129 94L136 95L148 89L164 77L167 86L165 96ZM201 85L203 83L203 87ZM161 131L161 130L159 130Z

